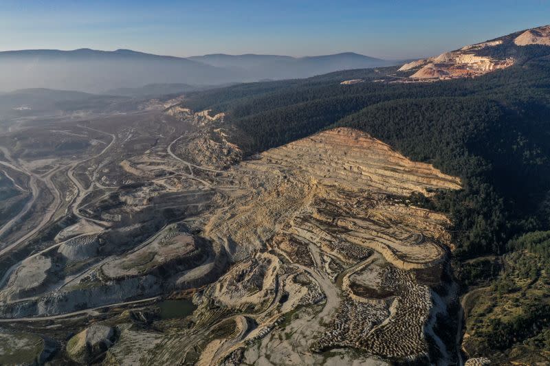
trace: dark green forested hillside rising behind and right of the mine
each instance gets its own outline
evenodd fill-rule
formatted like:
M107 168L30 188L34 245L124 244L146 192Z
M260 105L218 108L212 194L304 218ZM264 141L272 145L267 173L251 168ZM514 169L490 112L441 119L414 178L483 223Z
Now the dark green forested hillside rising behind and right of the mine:
M534 47L536 58L474 79L407 84L395 82L401 76L395 68L353 70L193 93L184 106L225 112L225 123L236 127L233 142L248 155L349 126L460 176L463 190L440 192L432 201L415 197L416 203L452 218L454 266L463 288L488 284L491 301L519 297L514 304L524 314L529 304L548 304L550 295L544 232L550 229L550 60L539 57L549 48ZM340 84L351 79L364 82ZM487 264L487 255L496 260ZM529 286L543 286L542 292L530 292L524 282L498 287L517 277L509 264L515 260L538 263ZM487 323L472 338L482 341L472 349L498 345L524 352L524 346L514 348L520 341L532 341L535 348L550 344L544 341L550 331L542 331L547 323L527 314L501 319L497 313L494 319L483 315ZM511 335L502 329L511 329Z

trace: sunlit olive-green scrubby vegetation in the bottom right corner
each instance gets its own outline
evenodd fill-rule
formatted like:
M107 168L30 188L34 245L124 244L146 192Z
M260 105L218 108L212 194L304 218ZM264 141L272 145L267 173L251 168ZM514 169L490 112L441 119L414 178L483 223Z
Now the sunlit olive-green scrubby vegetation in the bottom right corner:
M543 356L550 332L549 264L527 251L503 257L500 275L470 304L465 336L470 355L504 361L507 354L527 364L550 361L550 354Z

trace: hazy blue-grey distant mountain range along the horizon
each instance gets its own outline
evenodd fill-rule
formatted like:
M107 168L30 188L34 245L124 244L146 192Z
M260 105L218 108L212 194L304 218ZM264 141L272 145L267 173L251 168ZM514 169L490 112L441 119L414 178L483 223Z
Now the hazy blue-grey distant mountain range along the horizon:
M233 82L307 78L331 71L399 63L353 53L303 58L254 54L180 58L129 49L112 52L94 49L29 49L0 52L0 90L49 88L104 93L118 89L127 94L134 92L129 89L141 88L146 84L203 87Z

